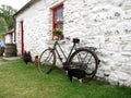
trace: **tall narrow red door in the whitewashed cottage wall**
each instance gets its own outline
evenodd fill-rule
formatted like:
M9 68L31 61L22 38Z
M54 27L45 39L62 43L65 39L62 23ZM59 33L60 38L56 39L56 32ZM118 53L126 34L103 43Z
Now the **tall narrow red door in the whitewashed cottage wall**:
M23 21L21 22L21 53L24 54L24 26Z

